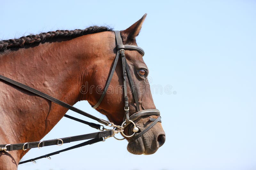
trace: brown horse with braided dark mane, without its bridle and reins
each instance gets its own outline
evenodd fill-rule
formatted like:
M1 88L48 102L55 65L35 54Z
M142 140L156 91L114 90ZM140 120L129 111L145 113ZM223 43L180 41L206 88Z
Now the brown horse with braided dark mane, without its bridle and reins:
M121 31L123 44L137 45L146 14L128 29ZM30 35L20 39L0 41L0 69L11 78L70 105L87 100L95 105L108 79L116 55L115 34L106 27L60 31ZM132 80L138 93L141 110L155 109L147 81L148 68L138 51L125 51ZM121 62L120 60L118 63ZM111 87L123 84L122 67L117 64ZM90 88L87 93L81 87ZM128 87L128 92L131 88ZM138 87L137 87L138 90ZM136 112L132 93L128 93L130 115ZM124 118L123 90L106 94L97 110L108 119L121 124ZM60 121L68 109L25 90L0 81L0 144L39 141ZM135 121L139 129L148 125L149 118ZM129 133L128 131L126 133ZM127 138L129 139L129 138ZM164 144L165 134L160 122L134 141L127 150L133 154L153 154ZM0 170L17 169L27 151L0 152Z

